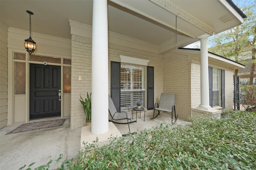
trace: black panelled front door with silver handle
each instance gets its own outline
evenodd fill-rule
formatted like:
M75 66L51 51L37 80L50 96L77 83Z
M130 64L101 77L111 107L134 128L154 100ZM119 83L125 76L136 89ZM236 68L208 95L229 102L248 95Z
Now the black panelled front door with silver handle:
M30 64L30 119L60 116L60 66Z

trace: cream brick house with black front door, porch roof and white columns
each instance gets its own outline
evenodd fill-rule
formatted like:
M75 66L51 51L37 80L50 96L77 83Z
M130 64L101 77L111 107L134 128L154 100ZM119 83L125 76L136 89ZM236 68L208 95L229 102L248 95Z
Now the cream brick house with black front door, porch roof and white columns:
M230 0L0 3L1 128L56 117L82 127L79 98L86 92L93 134L108 131L108 94L121 109L142 98L152 114L161 93L174 93L180 119L233 107L233 72L244 66L207 51L208 36L246 18ZM32 55L23 46L26 10L34 12ZM178 49L198 40L200 51Z

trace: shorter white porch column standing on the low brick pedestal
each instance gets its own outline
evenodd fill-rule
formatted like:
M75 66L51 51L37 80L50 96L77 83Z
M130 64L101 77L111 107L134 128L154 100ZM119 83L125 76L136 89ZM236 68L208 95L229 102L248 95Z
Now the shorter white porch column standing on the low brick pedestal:
M209 73L208 73L208 37L209 34L204 34L199 36L201 43L200 49L200 84L201 84L201 104L199 108L201 109L210 109L210 100L209 100Z

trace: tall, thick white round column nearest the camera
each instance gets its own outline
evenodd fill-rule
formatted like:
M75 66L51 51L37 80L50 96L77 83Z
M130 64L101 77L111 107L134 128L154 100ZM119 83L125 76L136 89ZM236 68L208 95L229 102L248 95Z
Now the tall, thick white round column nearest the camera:
M92 134L108 131L108 8L93 0L92 12Z

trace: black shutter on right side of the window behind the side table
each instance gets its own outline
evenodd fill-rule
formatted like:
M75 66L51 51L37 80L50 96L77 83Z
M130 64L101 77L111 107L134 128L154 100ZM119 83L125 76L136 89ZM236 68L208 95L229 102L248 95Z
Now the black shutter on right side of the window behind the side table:
M148 110L154 109L154 67L147 66L147 104Z

